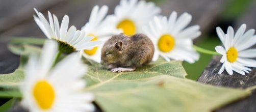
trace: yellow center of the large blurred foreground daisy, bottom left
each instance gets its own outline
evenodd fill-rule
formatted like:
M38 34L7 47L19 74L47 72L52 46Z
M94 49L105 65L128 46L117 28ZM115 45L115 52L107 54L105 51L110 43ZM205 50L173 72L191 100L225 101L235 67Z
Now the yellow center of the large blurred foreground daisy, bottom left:
M46 80L36 82L33 95L37 104L42 109L46 110L52 107L55 99L54 88Z

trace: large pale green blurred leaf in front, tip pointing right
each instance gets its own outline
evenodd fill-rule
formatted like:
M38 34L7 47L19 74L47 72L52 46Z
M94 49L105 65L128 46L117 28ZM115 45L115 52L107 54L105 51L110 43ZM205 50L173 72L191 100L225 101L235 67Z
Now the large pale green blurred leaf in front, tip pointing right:
M212 111L250 94L167 75L137 81L109 81L91 91L99 107L107 112Z

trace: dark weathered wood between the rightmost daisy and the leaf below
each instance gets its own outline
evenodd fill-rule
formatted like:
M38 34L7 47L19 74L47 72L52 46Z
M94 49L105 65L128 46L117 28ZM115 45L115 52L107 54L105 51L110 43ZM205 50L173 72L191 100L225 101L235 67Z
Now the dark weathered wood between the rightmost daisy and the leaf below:
M231 88L248 88L256 85L256 69L252 68L252 71L246 75L240 75L236 72L233 75L228 75L226 71L218 74L221 65L220 57L214 57L197 81Z

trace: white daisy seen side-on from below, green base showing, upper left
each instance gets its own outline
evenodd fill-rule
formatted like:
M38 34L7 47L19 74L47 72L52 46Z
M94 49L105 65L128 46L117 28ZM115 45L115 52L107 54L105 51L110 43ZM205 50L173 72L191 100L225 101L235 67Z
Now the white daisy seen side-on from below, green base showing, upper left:
M45 19L42 13L38 12L34 19L40 29L43 31L48 39L54 39L59 43L60 51L64 53L71 53L76 50L84 50L86 48L98 46L102 44L100 41L90 41L93 36L85 36L84 31L76 30L75 26L68 29L69 17L65 15L62 19L61 26L58 18L48 11L49 22Z

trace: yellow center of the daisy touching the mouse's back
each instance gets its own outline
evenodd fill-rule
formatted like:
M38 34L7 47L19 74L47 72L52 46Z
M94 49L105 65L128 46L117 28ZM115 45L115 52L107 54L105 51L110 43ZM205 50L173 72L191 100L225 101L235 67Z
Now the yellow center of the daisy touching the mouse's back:
M175 45L175 40L169 34L162 35L160 37L160 39L158 40L158 48L162 52L171 51L173 49L174 45Z

